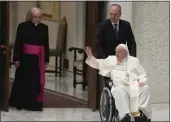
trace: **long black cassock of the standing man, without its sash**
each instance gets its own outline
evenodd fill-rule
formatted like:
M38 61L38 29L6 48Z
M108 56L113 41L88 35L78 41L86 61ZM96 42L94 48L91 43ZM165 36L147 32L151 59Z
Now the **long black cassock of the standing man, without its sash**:
M44 46L44 63L49 62L48 26L31 21L18 25L14 48L14 62L19 61L10 95L10 105L18 109L42 110L43 101L38 100L41 91L39 57L24 53L24 45Z

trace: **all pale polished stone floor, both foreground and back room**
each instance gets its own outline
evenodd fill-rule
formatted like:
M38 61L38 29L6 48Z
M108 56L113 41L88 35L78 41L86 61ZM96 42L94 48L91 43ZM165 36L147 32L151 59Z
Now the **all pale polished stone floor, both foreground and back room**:
M15 68L10 69L10 78L14 78ZM72 74L67 77L54 77L54 74L46 74L45 87L64 94L87 100L87 91L82 91L81 85L76 90L72 85ZM81 78L79 78L81 79ZM153 121L169 121L169 104L153 104ZM43 112L28 112L10 109L1 113L2 121L100 121L99 112L92 112L85 108L46 108Z

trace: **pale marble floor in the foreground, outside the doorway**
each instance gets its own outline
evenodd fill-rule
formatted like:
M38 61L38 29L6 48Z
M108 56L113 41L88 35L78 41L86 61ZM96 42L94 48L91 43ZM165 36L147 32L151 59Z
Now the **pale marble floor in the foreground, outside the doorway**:
M169 121L169 104L153 104L152 121ZM46 108L43 112L10 109L1 112L1 121L100 121L98 111L86 108Z

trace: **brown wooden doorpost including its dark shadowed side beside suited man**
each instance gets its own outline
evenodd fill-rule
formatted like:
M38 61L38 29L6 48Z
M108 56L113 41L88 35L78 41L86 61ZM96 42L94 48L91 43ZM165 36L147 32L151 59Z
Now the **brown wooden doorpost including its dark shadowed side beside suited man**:
M96 56L96 33L99 23L105 19L105 9L107 1L87 1L86 2L86 39L85 46L90 46ZM84 57L85 61L86 57ZM85 76L88 81L88 108L93 111L99 109L99 75L98 70L90 68L84 64Z

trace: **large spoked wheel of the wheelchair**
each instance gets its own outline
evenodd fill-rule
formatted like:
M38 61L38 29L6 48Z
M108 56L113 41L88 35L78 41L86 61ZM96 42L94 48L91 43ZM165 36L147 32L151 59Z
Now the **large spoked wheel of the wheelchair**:
M105 87L100 99L100 118L103 122L111 122L113 120L113 101L110 90Z

